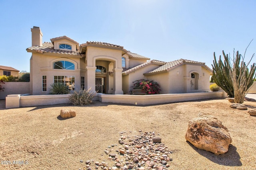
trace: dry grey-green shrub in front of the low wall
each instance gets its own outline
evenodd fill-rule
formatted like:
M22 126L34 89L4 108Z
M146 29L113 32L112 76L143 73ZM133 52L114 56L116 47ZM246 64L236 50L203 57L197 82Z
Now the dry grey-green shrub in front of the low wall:
M75 90L74 92L72 92L72 94L69 97L69 101L70 103L72 103L73 105L86 105L86 104L91 104L92 103L92 99L95 96L95 92L92 92L91 88L89 89L80 89L80 90Z

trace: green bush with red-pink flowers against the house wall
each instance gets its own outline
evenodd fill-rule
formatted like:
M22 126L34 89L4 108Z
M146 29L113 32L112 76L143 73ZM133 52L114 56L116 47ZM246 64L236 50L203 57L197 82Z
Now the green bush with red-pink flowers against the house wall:
M133 86L130 87L132 89L142 89L146 92L146 94L159 94L161 89L160 85L157 82L154 82L153 80L145 80L140 79L136 80L133 83ZM130 91L132 93L132 90Z

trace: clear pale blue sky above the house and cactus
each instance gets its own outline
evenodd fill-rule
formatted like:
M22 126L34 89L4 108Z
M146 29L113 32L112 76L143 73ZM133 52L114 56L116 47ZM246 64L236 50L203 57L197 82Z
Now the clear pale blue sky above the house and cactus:
M0 65L30 71L30 28L43 42L66 35L102 41L160 61L212 68L213 53L256 52L255 0L0 0ZM256 63L256 57L252 60Z

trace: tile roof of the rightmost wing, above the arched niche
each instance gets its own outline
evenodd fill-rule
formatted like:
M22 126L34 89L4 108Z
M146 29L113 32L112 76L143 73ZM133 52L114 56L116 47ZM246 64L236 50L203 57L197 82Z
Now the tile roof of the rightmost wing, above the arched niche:
M176 68L177 66L180 66L182 64L199 64L204 66L209 72L212 72L212 70L205 65L205 63L198 62L198 61L191 61L191 60L186 60L186 59L179 59L175 61L168 62L158 68L155 68L153 70L150 70L148 72L145 72L144 74L155 74L155 73L160 73L160 72L167 72L173 68Z

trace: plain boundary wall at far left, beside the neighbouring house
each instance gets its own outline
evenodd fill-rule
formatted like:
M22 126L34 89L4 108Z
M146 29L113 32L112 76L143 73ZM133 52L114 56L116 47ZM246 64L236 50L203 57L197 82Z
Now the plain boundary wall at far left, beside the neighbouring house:
M30 93L30 82L5 82L1 84L4 91L0 92L0 99L5 99L8 94L28 94Z

